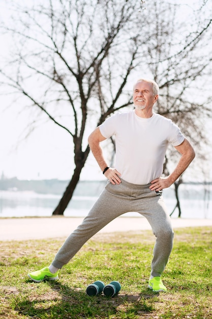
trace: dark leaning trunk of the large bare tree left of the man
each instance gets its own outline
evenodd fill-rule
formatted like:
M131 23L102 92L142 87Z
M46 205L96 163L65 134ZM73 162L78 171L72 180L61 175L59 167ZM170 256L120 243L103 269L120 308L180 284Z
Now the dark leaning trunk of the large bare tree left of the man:
M75 161L76 162L76 168L74 170L74 174L72 176L72 179L70 180L66 191L64 192L62 198L60 199L58 205L56 206L56 208L54 209L54 211L52 212L52 215L64 215L64 211L67 208L74 190L76 188L76 185L79 181L79 177L80 177L80 173L81 170L84 167L85 161L87 159L87 156L89 154L89 147L87 147L85 152L81 152L81 160L80 161ZM75 156L76 157L76 156ZM79 157L79 156L78 156Z

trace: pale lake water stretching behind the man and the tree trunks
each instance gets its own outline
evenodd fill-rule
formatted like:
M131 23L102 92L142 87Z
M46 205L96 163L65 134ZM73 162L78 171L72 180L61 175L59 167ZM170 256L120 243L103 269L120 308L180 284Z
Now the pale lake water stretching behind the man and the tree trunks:
M73 196L64 216L86 216L97 198L95 196ZM182 218L212 218L211 185L207 185L206 189L203 185L180 185L179 198ZM0 191L0 218L50 217L59 199L60 195L25 191ZM173 188L164 190L164 199L170 214L176 204ZM124 216L138 217L139 215L136 212L128 212ZM177 209L172 217L178 217Z

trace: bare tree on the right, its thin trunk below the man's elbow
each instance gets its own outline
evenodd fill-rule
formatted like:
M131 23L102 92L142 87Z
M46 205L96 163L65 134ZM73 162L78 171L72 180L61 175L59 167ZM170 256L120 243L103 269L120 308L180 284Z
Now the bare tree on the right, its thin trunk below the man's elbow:
M187 23L186 17L179 23L178 7L174 4L164 5L162 1L154 3L154 19L156 21L155 41L147 44L148 67L160 86L160 98L157 112L178 124L197 150L195 162L199 163L204 174L202 163L206 161L203 145L208 144L205 135L205 119L211 117L211 94L207 94L208 78L211 74L211 10L205 16L205 1L199 8L190 8L193 19ZM159 10L160 7L160 10ZM168 10L167 10L168 9ZM171 18L168 18L170 15ZM201 28L200 28L200 25ZM178 39L176 41L176 29ZM185 36L184 30L188 31ZM180 33L181 32L181 33ZM170 172L172 165L178 160L173 148L169 148L164 163L164 175ZM197 169L195 168L197 172ZM174 193L181 216L179 201L179 185L183 176L174 183Z

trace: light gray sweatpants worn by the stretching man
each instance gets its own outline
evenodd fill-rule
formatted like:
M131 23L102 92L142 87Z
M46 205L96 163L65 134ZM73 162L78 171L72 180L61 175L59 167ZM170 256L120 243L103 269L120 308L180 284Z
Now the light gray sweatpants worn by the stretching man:
M160 277L172 250L173 230L162 191L151 191L149 185L132 184L125 180L113 185L108 181L89 214L57 252L52 262L54 267L62 268L90 237L113 219L125 212L137 211L148 220L156 236L151 275Z

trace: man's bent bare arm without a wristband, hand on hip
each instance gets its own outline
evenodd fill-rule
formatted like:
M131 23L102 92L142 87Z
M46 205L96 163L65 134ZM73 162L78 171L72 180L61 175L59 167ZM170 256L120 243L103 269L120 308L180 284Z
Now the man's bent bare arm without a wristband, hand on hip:
M193 161L195 151L187 139L185 139L180 145L175 146L175 148L181 154L175 170L167 177L154 179L151 182L152 185L149 187L152 191L158 191L170 187L171 184L173 184L175 180L177 180L177 178L185 172L189 164Z

